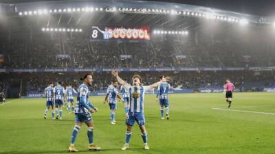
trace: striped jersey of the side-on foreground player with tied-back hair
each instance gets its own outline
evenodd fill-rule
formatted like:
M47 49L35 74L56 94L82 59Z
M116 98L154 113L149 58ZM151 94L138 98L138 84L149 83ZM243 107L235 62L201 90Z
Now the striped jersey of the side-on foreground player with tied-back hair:
M78 95L77 95L77 101L76 101L76 107L75 107L74 113L88 113L89 110L87 110L80 103L80 97L85 97L85 103L87 103L87 105L89 104L89 88L85 84L81 84L78 87Z

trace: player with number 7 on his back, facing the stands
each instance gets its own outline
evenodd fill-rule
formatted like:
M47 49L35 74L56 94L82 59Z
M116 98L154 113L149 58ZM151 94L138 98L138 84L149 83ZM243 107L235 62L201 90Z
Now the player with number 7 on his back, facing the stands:
M162 81L163 77L159 77L159 79ZM164 107L165 107L165 113L166 118L169 120L169 100L168 100L168 90L170 89L170 84L167 82L162 82L157 88L157 94L156 97L159 99L159 105L160 105L160 114L162 116L162 120L164 120Z

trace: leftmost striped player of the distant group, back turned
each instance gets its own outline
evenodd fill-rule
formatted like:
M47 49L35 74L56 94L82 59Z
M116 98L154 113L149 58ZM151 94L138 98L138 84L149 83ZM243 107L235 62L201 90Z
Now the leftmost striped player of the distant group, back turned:
M54 83L50 84L45 88L45 98L46 98L46 110L44 114L44 119L47 118L47 112L52 107L52 119L54 119Z

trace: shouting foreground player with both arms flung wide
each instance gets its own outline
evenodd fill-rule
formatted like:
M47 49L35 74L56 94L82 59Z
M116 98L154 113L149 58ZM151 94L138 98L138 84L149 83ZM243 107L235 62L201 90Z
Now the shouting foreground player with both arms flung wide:
M141 130L141 136L142 140L144 142L144 149L148 150L148 138L147 138L147 131L145 128L145 118L144 118L144 95L145 92L148 90L151 90L159 84L162 84L162 82L166 82L170 77L164 77L162 81L158 81L155 84L152 84L150 86L142 86L142 78L140 75L134 75L132 77L133 79L133 86L127 85L125 81L123 81L119 76L117 71L112 71L112 75L118 79L118 83L121 84L126 90L129 90L130 94L130 109L128 116L126 118L126 125L127 125L127 131L126 131L126 143L122 147L122 150L129 149L129 142L132 134L132 127L135 121L137 121L138 125L140 126Z

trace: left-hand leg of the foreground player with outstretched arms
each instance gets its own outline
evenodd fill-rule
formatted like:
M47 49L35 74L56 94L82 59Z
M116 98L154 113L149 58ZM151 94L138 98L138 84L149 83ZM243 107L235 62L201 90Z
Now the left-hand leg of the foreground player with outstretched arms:
M129 143L132 136L132 127L135 123L135 118L133 117L133 114L129 113L126 117L126 136L125 136L125 144L122 146L122 151L129 149Z

